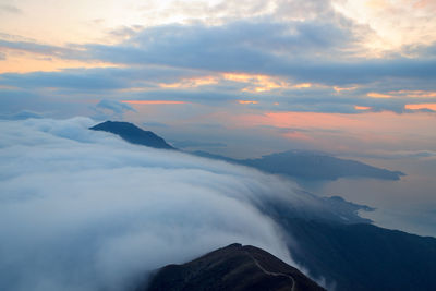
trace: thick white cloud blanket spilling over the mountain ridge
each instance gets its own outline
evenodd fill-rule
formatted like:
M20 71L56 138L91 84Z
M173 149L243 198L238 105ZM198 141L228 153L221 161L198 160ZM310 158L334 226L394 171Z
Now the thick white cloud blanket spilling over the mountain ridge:
M119 290L232 242L290 262L256 205L290 182L88 131L87 118L0 121L0 289Z

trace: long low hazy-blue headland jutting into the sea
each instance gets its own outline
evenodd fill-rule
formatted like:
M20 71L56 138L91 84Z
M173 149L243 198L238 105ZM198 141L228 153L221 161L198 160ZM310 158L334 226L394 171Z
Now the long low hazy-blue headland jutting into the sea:
M302 180L337 180L346 177L365 177L400 180L404 173L376 168L356 160L341 159L323 153L290 150L256 159L231 159L205 151L192 154L256 168L264 172L286 174Z

